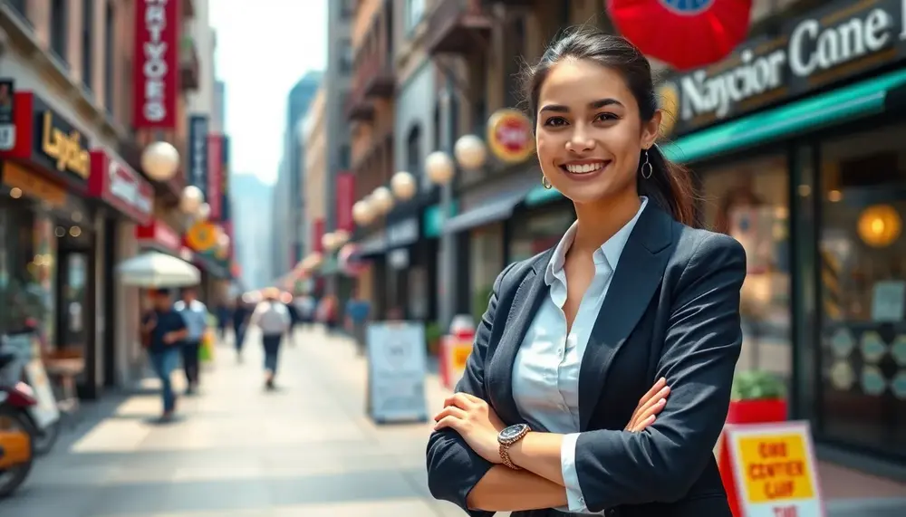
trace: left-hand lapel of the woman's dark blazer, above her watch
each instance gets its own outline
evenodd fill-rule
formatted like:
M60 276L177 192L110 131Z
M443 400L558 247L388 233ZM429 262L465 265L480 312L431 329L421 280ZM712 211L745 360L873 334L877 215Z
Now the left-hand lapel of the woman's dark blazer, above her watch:
M525 334L547 293L545 268L552 254L554 250L539 255L525 278L519 282L513 303L506 314L506 322L500 321L504 328L487 367L488 396L496 408L497 416L507 425L523 422L513 398L513 365L516 362L516 352L525 340Z

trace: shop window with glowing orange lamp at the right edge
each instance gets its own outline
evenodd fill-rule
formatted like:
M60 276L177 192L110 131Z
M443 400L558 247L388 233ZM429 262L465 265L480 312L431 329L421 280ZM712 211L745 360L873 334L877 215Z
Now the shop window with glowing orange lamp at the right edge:
M826 438L906 457L906 125L822 143L817 407Z

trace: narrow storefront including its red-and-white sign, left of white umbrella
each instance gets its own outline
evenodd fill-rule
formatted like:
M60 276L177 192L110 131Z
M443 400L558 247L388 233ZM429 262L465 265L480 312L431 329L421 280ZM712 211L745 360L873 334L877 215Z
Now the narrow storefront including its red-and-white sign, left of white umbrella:
M137 225L149 225L154 214L154 187L130 168L110 149L96 148L91 152L92 174L88 193L104 207L102 276L103 321L106 336L103 342L103 385L122 386L133 380L140 357L139 312L140 292L123 285L115 274L116 264L139 252Z

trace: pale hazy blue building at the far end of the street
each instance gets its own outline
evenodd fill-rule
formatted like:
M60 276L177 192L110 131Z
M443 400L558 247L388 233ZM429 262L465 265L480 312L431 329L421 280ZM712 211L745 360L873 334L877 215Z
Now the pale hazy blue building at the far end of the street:
M272 215L269 210L272 187L255 175L236 174L230 177L232 193L236 260L242 264L242 283L246 289L260 289L274 278L273 264L269 260L272 233L269 228ZM237 194L239 193L239 194Z

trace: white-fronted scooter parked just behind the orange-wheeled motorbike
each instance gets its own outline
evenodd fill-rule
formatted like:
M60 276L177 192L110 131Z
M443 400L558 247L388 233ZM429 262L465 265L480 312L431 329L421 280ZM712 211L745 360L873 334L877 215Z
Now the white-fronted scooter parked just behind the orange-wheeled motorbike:
M31 388L35 404L26 407L25 416L32 427L34 455L46 455L53 449L62 428L60 408L40 357L34 357L34 335L0 336L0 354L9 359L0 366L0 386L15 386L24 381Z

